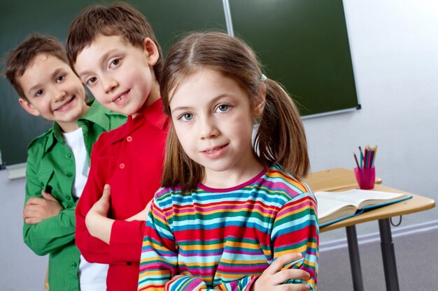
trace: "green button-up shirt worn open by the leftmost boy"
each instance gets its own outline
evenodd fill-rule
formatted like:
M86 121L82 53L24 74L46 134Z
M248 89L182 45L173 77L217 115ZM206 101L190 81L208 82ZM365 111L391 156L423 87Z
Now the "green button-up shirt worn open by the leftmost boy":
M126 121L125 115L107 110L97 101L78 119L83 130L88 162L92 145L101 133L117 128ZM75 179L75 161L71 149L62 137L61 128L54 123L46 133L29 144L26 169L26 199L42 197L41 191L51 193L62 211L36 225L24 223L24 243L37 255L49 254L50 291L78 291L80 253L75 245L75 207L77 198L71 193Z

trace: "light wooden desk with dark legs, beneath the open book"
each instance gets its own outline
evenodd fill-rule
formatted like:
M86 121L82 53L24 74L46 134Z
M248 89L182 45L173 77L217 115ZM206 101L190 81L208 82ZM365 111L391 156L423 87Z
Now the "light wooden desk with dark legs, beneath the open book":
M312 173L307 184L311 186L313 192L316 191L344 191L351 188L357 188L358 184L355 181L352 170L337 168ZM393 188L379 185L381 179L376 178L374 190L386 192L407 193ZM393 216L401 216L414 212L425 211L435 207L435 201L420 195L407 193L412 195L409 200L404 200L395 204L390 204L385 207L380 207L372 211L367 211L359 216L347 218L343 221L327 225L320 228L320 232L335 230L340 227L346 227L348 253L350 255L351 274L353 277L353 289L355 291L363 291L362 270L360 267L360 255L358 246L358 235L355 225L368 221L379 221L379 232L381 237L381 251L383 258L383 270L385 271L386 290L399 291L397 264L395 262L395 251L393 237L390 228L390 218Z

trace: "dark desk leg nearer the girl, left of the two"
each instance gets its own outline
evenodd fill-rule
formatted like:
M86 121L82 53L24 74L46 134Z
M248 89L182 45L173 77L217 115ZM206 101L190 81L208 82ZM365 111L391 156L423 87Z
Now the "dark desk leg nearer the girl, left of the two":
M351 276L353 276L353 290L364 291L362 281L362 269L360 268L360 256L358 234L355 225L347 226L348 254L350 255Z

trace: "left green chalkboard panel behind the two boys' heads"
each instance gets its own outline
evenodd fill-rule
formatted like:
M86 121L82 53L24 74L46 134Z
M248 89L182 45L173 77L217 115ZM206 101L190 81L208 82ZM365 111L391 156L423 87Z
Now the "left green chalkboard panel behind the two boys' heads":
M111 3L115 1L105 1ZM183 32L216 29L226 31L221 0L125 1L139 9L153 25L164 52ZM103 1L20 0L0 3L0 54L18 45L34 31L56 36L62 42L74 18L83 8ZM1 64L3 70L4 64ZM25 163L27 144L50 127L18 104L18 96L6 78L0 80L0 151L4 165Z

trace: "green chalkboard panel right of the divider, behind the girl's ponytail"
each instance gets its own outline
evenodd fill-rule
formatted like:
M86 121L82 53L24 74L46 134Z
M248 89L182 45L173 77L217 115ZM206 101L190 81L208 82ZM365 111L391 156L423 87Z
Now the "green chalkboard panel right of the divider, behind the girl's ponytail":
M358 107L342 0L229 1L234 35L302 116Z

